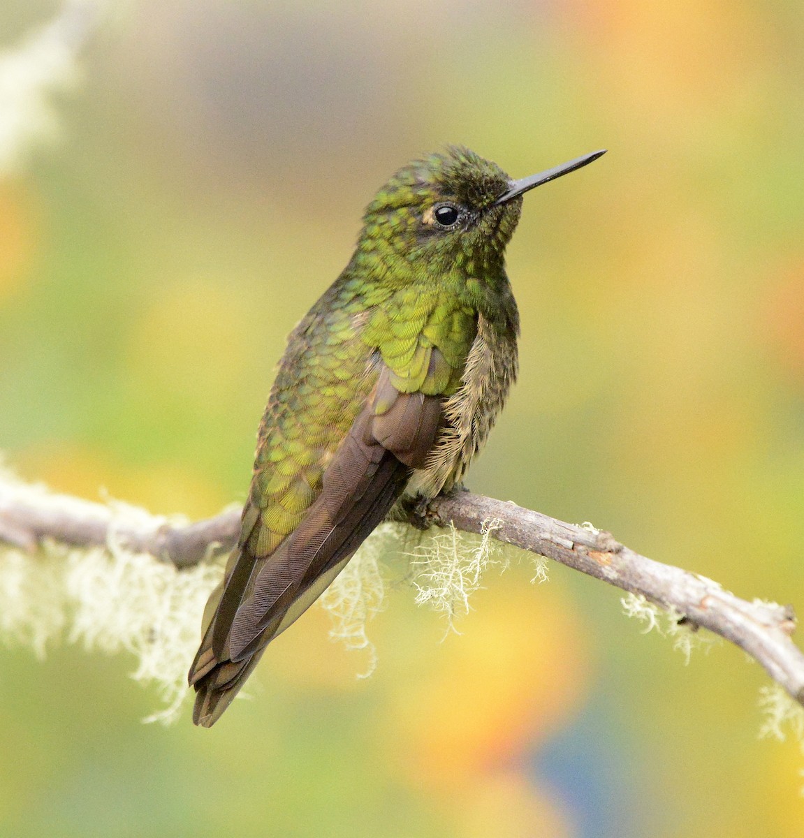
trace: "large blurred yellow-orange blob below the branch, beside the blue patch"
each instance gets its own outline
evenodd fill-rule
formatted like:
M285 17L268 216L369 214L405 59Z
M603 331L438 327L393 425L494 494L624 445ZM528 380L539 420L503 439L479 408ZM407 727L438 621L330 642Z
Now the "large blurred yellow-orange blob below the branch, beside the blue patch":
M426 674L386 707L382 724L406 743L394 759L414 786L464 788L516 764L569 722L589 689L589 649L570 603L513 572L484 593L460 636L428 650Z

